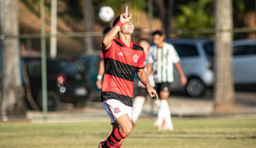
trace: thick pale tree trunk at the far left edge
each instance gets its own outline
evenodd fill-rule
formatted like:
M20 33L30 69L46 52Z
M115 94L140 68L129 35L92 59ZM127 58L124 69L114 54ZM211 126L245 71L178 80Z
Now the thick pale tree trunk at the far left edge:
M19 34L18 0L0 1L2 100L1 116L24 116L24 92L21 89L19 39L5 38Z

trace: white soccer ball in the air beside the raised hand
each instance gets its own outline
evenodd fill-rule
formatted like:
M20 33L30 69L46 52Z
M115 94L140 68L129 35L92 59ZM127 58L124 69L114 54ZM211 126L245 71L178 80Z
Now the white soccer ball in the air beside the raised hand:
M103 6L99 9L98 15L102 21L109 22L114 18L114 10L109 6Z

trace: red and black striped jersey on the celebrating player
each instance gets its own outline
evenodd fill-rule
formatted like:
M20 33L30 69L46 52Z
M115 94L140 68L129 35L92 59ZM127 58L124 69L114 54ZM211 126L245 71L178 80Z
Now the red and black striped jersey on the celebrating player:
M132 107L134 75L137 69L145 68L145 53L142 47L133 42L130 47L119 38L111 43L109 49L103 50L105 74L101 101L116 99Z

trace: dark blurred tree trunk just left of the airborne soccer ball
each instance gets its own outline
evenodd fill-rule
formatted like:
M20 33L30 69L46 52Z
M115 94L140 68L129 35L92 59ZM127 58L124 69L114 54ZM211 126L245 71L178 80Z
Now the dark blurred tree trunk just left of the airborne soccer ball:
M93 2L92 0L83 0L83 14L86 32L93 32ZM84 37L84 48L86 53L93 53L93 37Z

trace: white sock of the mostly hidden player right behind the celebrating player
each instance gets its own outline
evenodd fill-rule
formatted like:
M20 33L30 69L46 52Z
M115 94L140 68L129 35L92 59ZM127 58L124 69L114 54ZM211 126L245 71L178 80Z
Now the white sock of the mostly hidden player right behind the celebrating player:
M142 113L142 107L145 102L145 97L137 96L134 98L134 103L133 103L133 113L132 113L132 122L136 123L137 119Z

